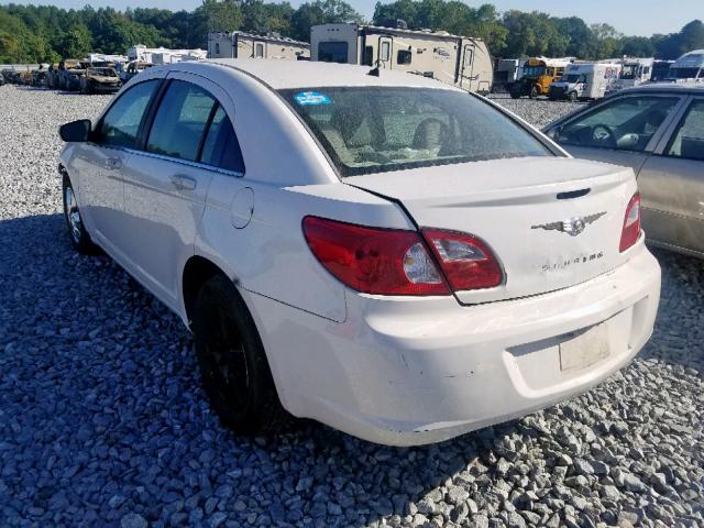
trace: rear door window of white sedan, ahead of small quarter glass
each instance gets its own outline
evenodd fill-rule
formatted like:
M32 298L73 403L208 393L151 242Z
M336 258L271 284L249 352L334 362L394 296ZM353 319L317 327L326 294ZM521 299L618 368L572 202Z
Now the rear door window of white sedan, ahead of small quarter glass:
M195 162L215 106L215 98L202 88L172 81L154 117L146 150Z

